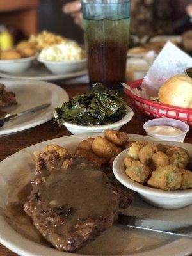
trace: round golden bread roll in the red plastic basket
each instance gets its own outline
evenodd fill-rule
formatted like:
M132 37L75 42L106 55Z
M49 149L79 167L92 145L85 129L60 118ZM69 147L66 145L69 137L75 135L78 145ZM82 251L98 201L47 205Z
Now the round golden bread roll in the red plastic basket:
M192 79L177 75L168 79L159 90L159 101L172 106L192 108Z

